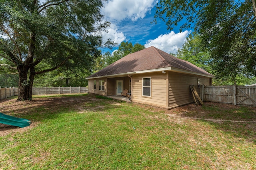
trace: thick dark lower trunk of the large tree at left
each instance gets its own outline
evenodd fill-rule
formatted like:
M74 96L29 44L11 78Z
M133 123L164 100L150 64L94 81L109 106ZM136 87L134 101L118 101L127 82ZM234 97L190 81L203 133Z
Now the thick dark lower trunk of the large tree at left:
M19 65L19 95L17 101L28 100L28 67Z

